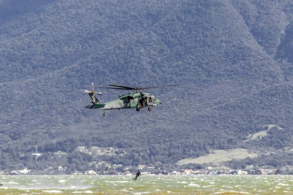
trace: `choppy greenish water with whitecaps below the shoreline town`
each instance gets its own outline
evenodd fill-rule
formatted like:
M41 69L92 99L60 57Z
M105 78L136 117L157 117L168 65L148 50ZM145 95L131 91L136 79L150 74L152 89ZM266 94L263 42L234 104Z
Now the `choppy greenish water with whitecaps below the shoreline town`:
M0 195L293 195L293 176L4 176Z

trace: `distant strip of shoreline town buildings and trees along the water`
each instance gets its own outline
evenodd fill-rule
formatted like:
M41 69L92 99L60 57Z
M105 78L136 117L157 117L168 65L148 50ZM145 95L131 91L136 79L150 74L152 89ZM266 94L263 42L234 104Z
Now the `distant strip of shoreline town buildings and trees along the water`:
M155 166L139 165L137 168L133 166L123 166L122 164L107 165L107 170L87 170L84 172L75 171L73 175L135 175L134 170L140 170L142 175L168 175L168 176L192 176L192 175L279 175L279 174L290 174L293 169L291 168L279 168L279 169L266 169L248 166L245 170L233 170L233 169L215 169L208 167L207 169L181 169L178 171L167 171ZM66 174L66 167L58 166L57 168L49 167L44 171L35 171L28 168L21 170L13 170L11 172L0 171L0 175L62 175ZM133 171L130 171L133 170Z

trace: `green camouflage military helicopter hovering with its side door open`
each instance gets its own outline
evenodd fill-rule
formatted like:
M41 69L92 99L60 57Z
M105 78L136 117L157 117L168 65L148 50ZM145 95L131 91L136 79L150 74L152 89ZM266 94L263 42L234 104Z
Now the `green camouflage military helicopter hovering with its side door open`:
M90 109L103 109L105 110L104 116L106 115L108 110L114 110L114 109L128 109L128 108L136 108L136 111L139 112L141 108L147 107L148 111L151 111L151 108L154 106L157 106L161 104L162 102L156 98L155 96L139 92L142 89L151 89L151 88L161 88L161 87L169 87L169 86L177 86L177 85L164 85L164 86L154 86L154 87L126 87L122 85L115 85L110 84L108 86L112 87L100 87L100 86L94 86L94 83L91 83L91 90L84 90L85 93L87 93L90 98L92 99L91 105L86 105L85 108ZM104 89L120 89L120 90L134 90L135 92L128 93L126 95L119 96L119 99L109 101L106 103L101 103L100 100L95 96L102 95L101 92L96 92L94 88L104 88Z

